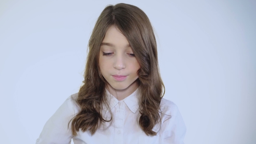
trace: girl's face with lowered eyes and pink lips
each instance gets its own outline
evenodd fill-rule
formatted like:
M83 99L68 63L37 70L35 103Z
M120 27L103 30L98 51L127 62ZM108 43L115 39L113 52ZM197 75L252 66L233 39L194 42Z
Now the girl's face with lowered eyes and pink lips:
M99 67L108 87L118 92L134 92L138 88L141 68L126 37L114 25L109 27L99 52Z

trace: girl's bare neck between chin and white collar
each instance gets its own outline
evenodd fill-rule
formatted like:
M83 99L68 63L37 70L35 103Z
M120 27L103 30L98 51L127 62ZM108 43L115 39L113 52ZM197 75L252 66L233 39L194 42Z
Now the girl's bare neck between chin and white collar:
M108 92L113 95L118 101L121 101L131 95L138 88L138 82L135 81L125 89L115 89L111 85L107 84L106 88Z

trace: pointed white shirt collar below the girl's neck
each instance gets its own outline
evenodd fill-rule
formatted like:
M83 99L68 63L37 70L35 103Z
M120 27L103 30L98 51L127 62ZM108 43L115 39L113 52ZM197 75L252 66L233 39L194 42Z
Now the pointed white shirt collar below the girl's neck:
M118 104L118 99L115 98L113 95L111 95L108 90L106 89L106 96L109 102L109 108L112 109L115 107L115 105ZM121 100L124 101L125 104L127 105L127 107L130 109L130 111L132 111L133 113L135 113L138 108L139 108L139 104L138 104L138 88L128 97L126 97L125 99ZM104 109L107 111L107 108L104 106Z

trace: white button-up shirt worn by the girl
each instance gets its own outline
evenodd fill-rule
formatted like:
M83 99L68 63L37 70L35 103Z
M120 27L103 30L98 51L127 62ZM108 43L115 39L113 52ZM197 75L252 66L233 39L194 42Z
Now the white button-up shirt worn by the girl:
M127 98L118 101L107 91L109 107L112 111L112 124L105 124L98 128L94 135L88 131L77 132L73 137L69 121L79 112L79 107L72 99L78 97L75 93L59 107L55 114L46 122L36 144L184 144L186 126L181 114L172 101L161 99L161 122L152 129L156 136L147 136L138 124L139 105L137 90ZM102 112L109 120L110 114L106 107Z

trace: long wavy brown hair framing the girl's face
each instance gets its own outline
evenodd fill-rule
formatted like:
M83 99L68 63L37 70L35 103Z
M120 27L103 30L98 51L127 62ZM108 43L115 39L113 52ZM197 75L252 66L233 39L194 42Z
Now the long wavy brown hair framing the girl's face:
M89 53L77 104L80 111L71 120L72 134L81 129L95 134L99 126L106 122L102 116L102 106L108 105L105 95L105 79L99 69L99 49L107 29L115 25L127 38L141 69L138 70L139 125L147 135L161 121L159 115L164 84L158 68L158 52L154 31L148 16L138 7L118 3L105 7L95 24L89 40ZM70 122L71 122L70 121ZM110 120L111 121L111 120Z

